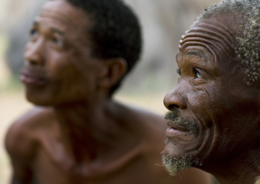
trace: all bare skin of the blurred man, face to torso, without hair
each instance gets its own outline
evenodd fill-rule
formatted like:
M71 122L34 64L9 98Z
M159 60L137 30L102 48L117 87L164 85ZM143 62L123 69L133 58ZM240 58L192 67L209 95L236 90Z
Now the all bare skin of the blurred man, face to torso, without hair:
M164 119L109 97L126 63L92 56L84 41L91 25L64 0L48 2L35 18L20 78L38 107L7 133L12 183L210 183L200 170L170 178L156 165Z

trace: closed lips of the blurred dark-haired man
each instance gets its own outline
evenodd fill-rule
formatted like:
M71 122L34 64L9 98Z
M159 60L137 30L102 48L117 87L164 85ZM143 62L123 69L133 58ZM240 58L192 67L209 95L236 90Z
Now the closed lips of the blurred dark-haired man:
M28 86L44 86L47 84L46 78L28 71L21 72L20 80Z

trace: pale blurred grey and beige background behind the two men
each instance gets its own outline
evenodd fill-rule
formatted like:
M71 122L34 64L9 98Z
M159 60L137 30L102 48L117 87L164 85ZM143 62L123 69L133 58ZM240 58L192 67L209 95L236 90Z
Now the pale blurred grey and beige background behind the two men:
M0 184L10 178L4 136L11 122L32 105L19 83L23 51L30 25L47 0L0 1ZM175 56L181 35L207 6L219 0L125 0L143 27L140 62L125 79L115 98L122 103L164 114L163 97L177 83ZM127 21L127 20L126 20ZM17 142L17 144L19 144Z

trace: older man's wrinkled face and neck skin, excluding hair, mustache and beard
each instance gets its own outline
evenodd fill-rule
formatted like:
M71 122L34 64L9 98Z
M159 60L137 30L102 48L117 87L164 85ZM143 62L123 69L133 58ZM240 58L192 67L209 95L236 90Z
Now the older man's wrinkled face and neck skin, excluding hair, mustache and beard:
M194 22L179 45L181 76L164 98L168 110L199 125L199 134L166 132L168 155L203 161L201 169L220 183L253 184L260 175L260 89L247 86L230 49L234 15ZM183 140L186 141L183 141Z

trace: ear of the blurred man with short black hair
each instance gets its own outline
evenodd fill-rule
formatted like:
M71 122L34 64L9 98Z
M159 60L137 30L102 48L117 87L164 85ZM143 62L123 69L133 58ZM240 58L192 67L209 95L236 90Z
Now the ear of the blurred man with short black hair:
M127 71L126 60L122 57L115 57L103 60L104 70L99 73L99 86L111 88L123 78Z

